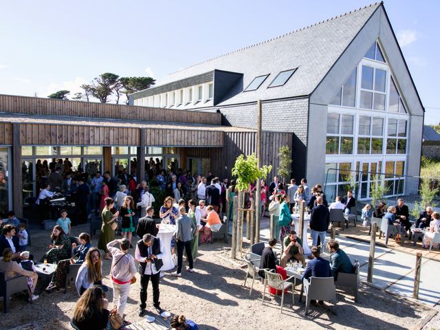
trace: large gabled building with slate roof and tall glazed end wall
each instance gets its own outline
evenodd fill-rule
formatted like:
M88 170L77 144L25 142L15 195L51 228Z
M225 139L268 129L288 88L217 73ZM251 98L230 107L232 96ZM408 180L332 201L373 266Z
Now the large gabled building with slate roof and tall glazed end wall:
M360 170L358 199L374 173L386 195L419 175L424 109L382 2L165 76L131 104L221 112L232 126L293 133L293 176L345 194ZM273 148L278 148L277 142ZM400 181L399 181L400 180Z

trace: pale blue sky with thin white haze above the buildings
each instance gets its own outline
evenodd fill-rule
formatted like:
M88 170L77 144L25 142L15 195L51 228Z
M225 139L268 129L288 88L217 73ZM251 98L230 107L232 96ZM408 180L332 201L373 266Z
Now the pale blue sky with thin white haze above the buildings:
M104 72L166 74L373 1L2 1L0 94L46 97ZM386 0L426 108L440 122L440 1Z

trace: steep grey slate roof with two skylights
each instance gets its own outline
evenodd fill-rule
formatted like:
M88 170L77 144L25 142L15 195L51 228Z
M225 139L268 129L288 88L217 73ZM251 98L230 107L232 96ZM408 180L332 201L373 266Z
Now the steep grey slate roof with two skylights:
M243 74L243 80L215 105L292 98L311 94L325 77L342 52L373 15L382 2L333 17L256 45L245 47L208 61L168 74L156 87L183 80L214 69ZM282 87L267 88L276 74L298 67L295 74ZM241 93L256 77L270 74L256 91ZM215 85L215 81L214 81ZM239 91L238 89L241 89ZM142 93L142 92L138 92ZM132 94L133 99L141 94ZM194 106L192 106L194 108Z

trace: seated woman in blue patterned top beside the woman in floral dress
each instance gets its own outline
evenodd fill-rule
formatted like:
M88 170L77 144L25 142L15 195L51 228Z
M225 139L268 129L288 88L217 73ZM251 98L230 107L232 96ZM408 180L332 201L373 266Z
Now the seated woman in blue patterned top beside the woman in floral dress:
M85 256L87 252L89 252L89 248L91 248L90 235L87 234L87 232L82 232L78 238L80 240L80 245L76 246L76 243L72 243L74 256L71 259L65 259L58 262L54 276L52 276L52 281L46 288L47 291L56 289L58 292L61 291L61 289L64 289L69 265L80 265L85 261Z

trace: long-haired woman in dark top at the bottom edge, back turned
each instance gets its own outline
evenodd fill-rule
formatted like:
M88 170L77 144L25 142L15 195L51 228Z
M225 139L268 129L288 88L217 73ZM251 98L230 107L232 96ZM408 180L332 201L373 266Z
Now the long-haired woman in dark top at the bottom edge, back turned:
M109 300L98 285L89 287L75 304L72 325L76 329L107 329L110 311Z

